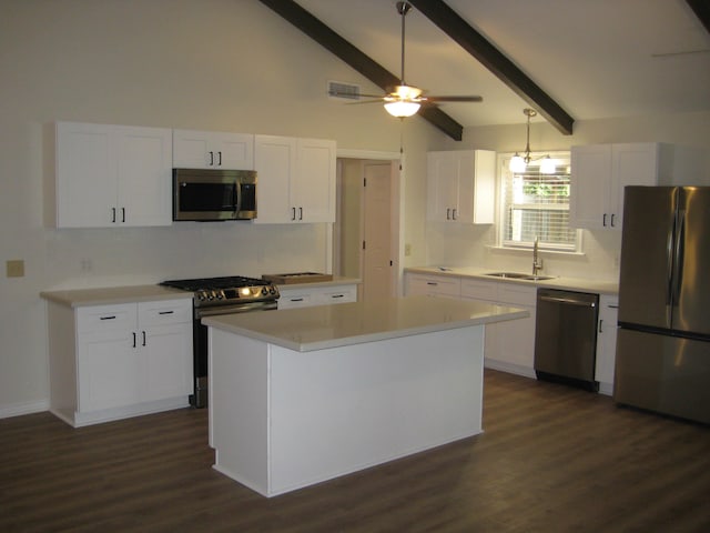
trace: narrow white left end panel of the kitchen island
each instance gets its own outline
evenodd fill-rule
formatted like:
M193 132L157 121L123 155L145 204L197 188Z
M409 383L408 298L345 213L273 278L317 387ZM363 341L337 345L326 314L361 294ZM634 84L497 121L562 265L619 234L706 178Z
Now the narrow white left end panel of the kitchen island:
M268 490L268 349L210 328L210 445L214 469L254 491Z

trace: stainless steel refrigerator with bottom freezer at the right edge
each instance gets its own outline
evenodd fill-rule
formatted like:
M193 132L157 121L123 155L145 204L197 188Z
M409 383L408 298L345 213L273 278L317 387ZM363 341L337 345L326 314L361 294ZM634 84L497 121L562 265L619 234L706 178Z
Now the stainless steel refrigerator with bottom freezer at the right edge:
M710 187L627 187L613 398L710 424Z

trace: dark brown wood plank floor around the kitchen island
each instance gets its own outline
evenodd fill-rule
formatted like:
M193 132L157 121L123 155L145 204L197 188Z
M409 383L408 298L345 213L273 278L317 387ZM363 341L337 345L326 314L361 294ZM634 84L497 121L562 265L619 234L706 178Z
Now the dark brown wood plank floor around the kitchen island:
M710 429L487 371L485 433L274 499L213 471L207 413L0 420L0 532L708 532Z

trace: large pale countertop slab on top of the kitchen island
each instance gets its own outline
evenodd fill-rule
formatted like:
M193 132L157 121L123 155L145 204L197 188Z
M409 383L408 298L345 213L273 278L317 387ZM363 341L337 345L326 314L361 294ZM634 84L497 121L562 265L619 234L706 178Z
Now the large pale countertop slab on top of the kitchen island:
M383 299L261 313L210 316L202 323L298 352L523 319L517 308L432 296Z

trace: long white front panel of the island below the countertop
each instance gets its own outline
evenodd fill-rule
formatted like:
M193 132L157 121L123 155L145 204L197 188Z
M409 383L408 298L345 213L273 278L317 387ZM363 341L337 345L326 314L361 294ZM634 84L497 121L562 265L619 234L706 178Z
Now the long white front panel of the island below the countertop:
M276 495L481 431L484 326L313 352L272 346Z

